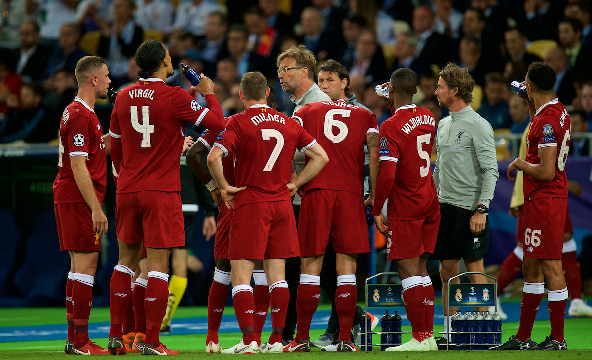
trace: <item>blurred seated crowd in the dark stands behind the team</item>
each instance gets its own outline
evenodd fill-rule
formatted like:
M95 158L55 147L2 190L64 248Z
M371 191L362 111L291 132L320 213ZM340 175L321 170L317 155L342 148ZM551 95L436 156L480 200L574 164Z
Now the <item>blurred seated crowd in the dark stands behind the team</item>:
M475 80L472 107L497 134L522 134L526 102L509 84L530 63L557 72L554 92L570 111L572 132L592 128L592 24L589 1L568 0L2 0L0 12L0 142L56 141L59 119L76 95L74 69L92 54L107 60L112 87L136 82L134 53L156 38L176 69L168 79L190 89L179 64L214 79L229 116L244 110L242 75L258 70L278 94L278 110L294 104L276 76L276 56L293 44L349 70L350 91L377 115L391 116L374 88L392 71L420 76L414 102L439 120L448 115L433 92L448 62ZM112 104L95 110L108 130ZM511 150L511 149L510 149ZM571 155L588 155L587 139ZM511 157L507 148L498 159Z

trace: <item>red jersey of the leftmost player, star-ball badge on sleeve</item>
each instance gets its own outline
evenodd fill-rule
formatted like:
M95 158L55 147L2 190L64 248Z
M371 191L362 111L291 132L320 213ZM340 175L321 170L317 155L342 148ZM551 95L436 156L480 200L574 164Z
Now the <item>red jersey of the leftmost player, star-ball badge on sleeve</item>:
M70 166L70 156L86 156L86 168L91 174L99 201L107 188L107 158L99 119L86 102L76 97L62 113L60 120L58 172L53 182L53 202L86 203L76 185Z

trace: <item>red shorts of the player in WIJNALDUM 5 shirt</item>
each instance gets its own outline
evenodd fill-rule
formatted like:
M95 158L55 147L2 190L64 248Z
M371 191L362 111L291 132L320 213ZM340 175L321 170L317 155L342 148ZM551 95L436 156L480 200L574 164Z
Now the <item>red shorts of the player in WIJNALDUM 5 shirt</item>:
M388 220L387 259L414 259L433 253L439 227L439 209L419 220Z

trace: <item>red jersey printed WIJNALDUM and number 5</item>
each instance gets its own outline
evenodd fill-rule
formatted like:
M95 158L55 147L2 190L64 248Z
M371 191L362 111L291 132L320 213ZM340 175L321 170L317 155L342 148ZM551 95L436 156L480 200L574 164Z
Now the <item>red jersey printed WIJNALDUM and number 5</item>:
M380 127L380 160L397 164L388 194L389 220L418 220L438 210L436 186L430 168L436 123L431 111L415 104L403 105ZM381 172L383 169L381 168ZM380 179L380 177L379 177ZM378 215L384 197L374 201Z

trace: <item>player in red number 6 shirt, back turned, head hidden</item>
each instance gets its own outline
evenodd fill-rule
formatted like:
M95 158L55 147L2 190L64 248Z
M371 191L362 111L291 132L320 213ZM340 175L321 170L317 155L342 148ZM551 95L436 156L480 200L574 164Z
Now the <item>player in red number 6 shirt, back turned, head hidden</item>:
M339 316L337 351L358 351L350 334L356 313L356 260L370 251L363 206L364 145L368 147L371 201L378 177L378 122L372 112L350 101L319 101L294 114L331 159L304 187L298 240L301 275L298 285L298 331L284 351L310 351L310 323L320 296L320 274L331 239L336 253Z

